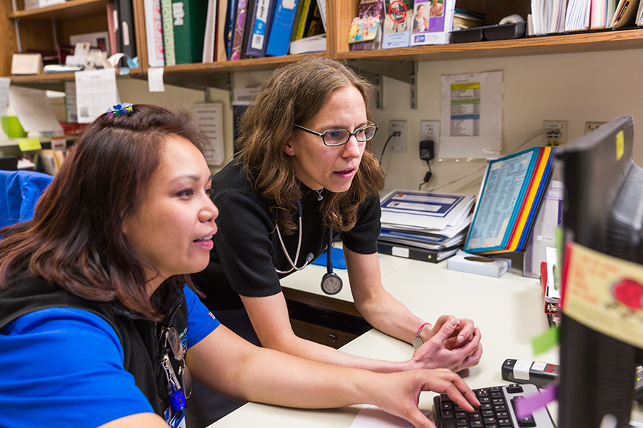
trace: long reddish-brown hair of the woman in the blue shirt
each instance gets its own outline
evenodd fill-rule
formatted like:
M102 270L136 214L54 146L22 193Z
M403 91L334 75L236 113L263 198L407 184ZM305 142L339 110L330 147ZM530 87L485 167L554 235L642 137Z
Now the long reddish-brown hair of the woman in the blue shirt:
M181 136L202 150L205 136L186 112L144 104L127 115L96 118L41 197L33 220L0 230L0 288L30 273L88 300L118 299L159 320L162 290L152 299L147 272L157 272L134 250L121 225L135 213L166 138ZM164 285L191 285L189 275ZM159 287L164 288L164 287Z

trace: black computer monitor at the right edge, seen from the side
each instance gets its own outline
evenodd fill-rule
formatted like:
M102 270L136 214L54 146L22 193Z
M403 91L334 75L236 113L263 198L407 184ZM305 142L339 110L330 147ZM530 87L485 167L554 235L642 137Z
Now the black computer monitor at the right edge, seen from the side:
M633 141L632 116L620 116L558 151L557 160L565 240L643 264L643 169L632 161ZM559 428L598 428L605 414L627 427L638 352L563 313Z

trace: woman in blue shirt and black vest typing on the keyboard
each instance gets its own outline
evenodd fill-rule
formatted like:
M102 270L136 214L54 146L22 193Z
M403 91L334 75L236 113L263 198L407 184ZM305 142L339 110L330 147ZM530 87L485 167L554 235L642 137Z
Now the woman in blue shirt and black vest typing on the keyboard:
M241 401L368 403L416 426L430 424L422 390L479 405L449 370L324 365L219 325L186 276L217 233L205 140L189 116L119 104L76 142L33 220L0 229L2 427L185 427L191 377Z

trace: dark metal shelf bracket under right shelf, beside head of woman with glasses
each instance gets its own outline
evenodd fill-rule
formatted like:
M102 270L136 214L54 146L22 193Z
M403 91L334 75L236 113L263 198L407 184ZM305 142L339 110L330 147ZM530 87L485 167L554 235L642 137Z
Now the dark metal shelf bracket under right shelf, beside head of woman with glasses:
M417 62L348 59L346 63L347 66L354 68L355 71L361 73L374 84L377 91L375 95L377 108L384 108L382 99L384 79L382 79L382 76L409 83L411 85L411 108L417 108Z

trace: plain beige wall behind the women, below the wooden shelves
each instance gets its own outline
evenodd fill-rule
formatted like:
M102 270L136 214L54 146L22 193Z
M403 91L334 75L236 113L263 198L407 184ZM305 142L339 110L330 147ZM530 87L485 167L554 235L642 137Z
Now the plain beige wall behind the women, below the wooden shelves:
M440 76L444 74L503 71L504 111L502 152L508 154L522 144L544 120L564 120L568 125L567 141L582 135L586 121L607 122L622 114L643 118L643 49L604 51L546 56L465 59L419 63L418 108L410 108L410 86L384 78L384 108L372 108L380 131L373 151L379 158L388 137L389 121L407 121L407 153L387 153L382 162L387 170L387 189L417 189L427 172L419 159L420 121L438 120L440 113ZM235 73L234 87L258 85L269 72ZM121 101L132 103L194 103L204 101L204 92L166 86L165 93L149 93L147 83L136 79L119 79ZM224 103L225 158L232 154L232 114L229 93L210 90L211 101ZM643 132L642 132L643 134ZM534 139L524 148L539 145ZM636 134L634 161L643 165L643 137ZM424 189L448 183L484 167L484 161L432 161L434 176ZM213 171L219 168L212 168ZM482 172L449 185L443 190L477 193Z

